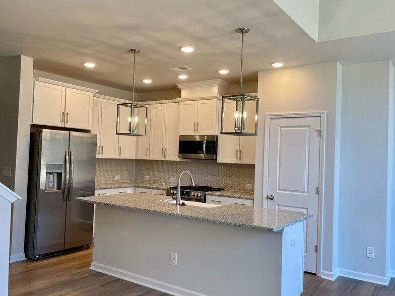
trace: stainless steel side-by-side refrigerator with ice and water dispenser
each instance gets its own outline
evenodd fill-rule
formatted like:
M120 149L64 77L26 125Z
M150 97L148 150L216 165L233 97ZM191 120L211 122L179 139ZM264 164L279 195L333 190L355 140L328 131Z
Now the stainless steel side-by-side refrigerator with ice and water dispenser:
M31 133L25 254L37 260L88 248L95 193L97 135L39 129Z

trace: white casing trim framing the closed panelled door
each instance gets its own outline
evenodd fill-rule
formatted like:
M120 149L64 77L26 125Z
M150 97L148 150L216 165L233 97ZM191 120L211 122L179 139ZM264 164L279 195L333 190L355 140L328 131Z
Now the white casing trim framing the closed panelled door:
M317 228L317 276L321 276L322 266L322 217L323 217L323 201L325 195L325 138L326 138L326 112L302 112L302 113L278 113L278 114L266 114L265 116L265 142L264 142L264 182L262 183L262 192L264 193L262 198L262 207L268 207L268 200L265 196L268 195L268 175L269 175L269 131L270 131L270 120L274 118L303 118L303 117L320 117L321 121L321 138L319 145L319 194L318 194L318 228Z

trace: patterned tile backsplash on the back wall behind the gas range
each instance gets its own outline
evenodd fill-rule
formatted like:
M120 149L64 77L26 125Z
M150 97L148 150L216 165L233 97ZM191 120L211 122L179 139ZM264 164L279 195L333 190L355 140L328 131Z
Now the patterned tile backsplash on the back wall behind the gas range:
M254 165L219 164L215 161L136 160L135 181L176 185L175 182L170 182L170 178L177 179L183 170L192 173L196 185L253 192L253 189L245 189L245 184L254 184ZM144 176L150 176L150 180L144 180ZM182 184L189 184L187 178L183 177Z

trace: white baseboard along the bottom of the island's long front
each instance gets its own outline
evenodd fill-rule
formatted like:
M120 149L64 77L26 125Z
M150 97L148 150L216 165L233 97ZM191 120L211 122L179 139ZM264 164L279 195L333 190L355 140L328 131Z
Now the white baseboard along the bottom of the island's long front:
M92 262L90 269L131 281L174 296L207 296L205 294L178 287L166 282L131 273L111 266Z

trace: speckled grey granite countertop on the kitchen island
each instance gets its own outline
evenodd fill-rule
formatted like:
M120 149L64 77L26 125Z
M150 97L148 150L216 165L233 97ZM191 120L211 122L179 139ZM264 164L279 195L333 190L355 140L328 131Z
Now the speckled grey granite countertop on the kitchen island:
M292 211L262 209L237 204L215 207L177 206L161 201L163 196L142 193L79 197L76 200L270 232L280 231L312 217L312 214L306 215Z

